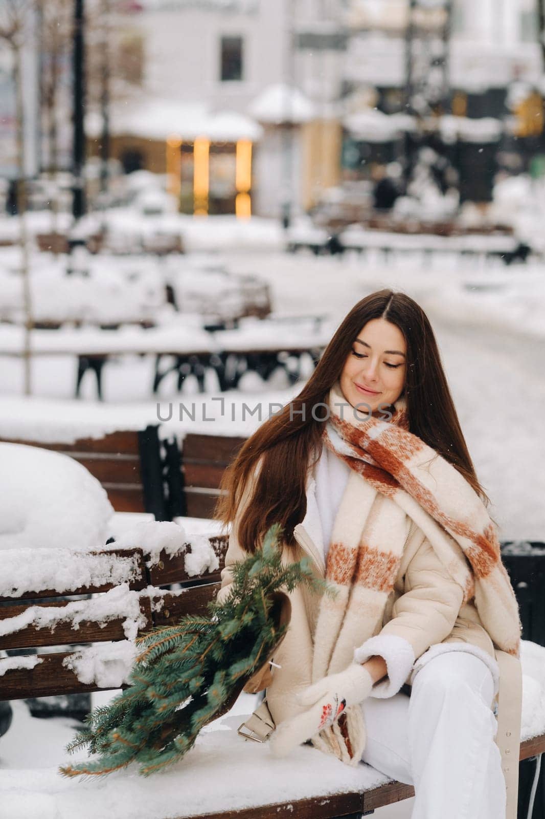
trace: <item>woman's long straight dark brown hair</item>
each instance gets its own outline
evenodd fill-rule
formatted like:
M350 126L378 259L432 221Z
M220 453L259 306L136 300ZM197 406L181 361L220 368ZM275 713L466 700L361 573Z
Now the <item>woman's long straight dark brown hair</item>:
M253 491L236 521L238 540L245 551L255 550L272 523L282 525L284 541L293 541L293 529L306 513L307 474L322 450L322 423L327 409L318 405L327 401L358 333L372 319L386 319L405 337L404 392L410 432L453 464L489 505L462 435L430 321L421 306L405 293L384 289L354 305L299 395L245 441L223 473L223 494L214 518L227 524L234 520L250 474L261 459Z

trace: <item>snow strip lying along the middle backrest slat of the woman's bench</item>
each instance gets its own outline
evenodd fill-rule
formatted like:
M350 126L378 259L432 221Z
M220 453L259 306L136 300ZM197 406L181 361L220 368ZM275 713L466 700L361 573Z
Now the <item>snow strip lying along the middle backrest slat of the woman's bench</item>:
M74 631L79 630L79 623L97 622L101 628L110 620L124 618L123 630L127 640L135 640L137 631L146 626L146 615L140 609L137 591L131 591L128 583L115 586L103 595L91 600L74 600L60 606L29 606L16 617L0 620L0 637L13 634L23 628L50 628L55 631L61 622L70 622Z

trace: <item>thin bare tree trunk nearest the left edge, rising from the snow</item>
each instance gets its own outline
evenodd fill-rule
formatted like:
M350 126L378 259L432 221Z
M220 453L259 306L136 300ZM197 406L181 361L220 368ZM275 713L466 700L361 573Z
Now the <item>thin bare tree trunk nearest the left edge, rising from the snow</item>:
M16 154L18 166L17 179L17 212L19 214L20 225L20 275L23 286L23 304L25 308L25 340L23 348L23 360L25 366L25 396L29 396L32 391L31 367L32 367L32 299L30 295L30 274L29 274L29 247L26 230L26 183L25 183L25 106L23 104L23 72L22 72L22 50L19 44L11 48L13 56L13 81L16 92Z

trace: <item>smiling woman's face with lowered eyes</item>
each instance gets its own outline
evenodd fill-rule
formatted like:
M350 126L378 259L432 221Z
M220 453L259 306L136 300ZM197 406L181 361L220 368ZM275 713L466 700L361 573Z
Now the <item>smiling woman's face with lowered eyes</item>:
M394 404L403 391L406 355L405 338L395 324L385 319L368 321L340 373L345 399L364 414L380 415L378 406Z

